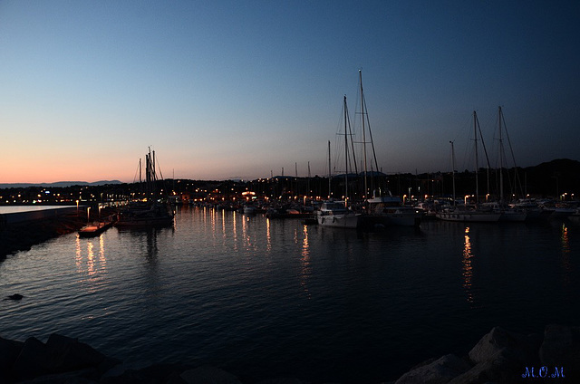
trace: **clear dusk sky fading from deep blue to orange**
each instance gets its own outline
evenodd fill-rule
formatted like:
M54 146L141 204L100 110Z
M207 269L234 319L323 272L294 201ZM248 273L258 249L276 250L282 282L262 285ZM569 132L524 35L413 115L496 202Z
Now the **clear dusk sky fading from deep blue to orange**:
M498 106L517 166L580 160L578 25L576 1L0 0L0 183L132 182L149 148L164 178L324 176L344 95L362 141L359 70L387 174L450 171L449 141L472 168L474 110L497 164Z

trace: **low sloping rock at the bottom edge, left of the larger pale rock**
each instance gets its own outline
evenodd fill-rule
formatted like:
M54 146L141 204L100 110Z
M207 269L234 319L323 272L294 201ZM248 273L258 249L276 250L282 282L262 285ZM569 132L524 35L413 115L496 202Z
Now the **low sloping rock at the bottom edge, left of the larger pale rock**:
M442 384L470 369L467 361L449 354L405 373L395 384Z

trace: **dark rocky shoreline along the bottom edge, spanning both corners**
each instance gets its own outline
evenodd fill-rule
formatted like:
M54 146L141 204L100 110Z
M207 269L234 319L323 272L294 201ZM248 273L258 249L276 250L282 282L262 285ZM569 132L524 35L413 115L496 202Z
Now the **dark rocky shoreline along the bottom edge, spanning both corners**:
M226 370L187 364L154 364L127 368L88 344L59 334L46 343L29 338L0 338L0 383L29 384L250 384ZM543 334L495 327L464 357L448 354L424 361L388 381L394 384L511 384L580 382L580 327L551 324ZM308 384L275 378L256 384ZM387 383L387 381L383 381ZM253 384L253 383L252 383Z

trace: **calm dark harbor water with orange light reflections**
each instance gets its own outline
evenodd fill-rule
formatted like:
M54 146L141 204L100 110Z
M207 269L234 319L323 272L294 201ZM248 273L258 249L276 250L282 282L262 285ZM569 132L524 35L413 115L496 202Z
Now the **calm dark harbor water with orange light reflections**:
M54 331L240 379L395 379L493 326L578 325L580 226L357 233L183 207L174 228L63 235L0 264L0 336Z

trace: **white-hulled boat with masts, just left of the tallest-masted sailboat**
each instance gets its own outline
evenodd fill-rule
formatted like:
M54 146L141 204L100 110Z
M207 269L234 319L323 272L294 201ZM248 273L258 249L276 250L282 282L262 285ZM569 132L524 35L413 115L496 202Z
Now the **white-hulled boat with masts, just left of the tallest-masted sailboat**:
M343 101L343 112L344 112L344 151L345 151L345 165L346 171L344 172L344 201L324 201L320 210L316 214L316 221L319 226L332 226L336 228L357 228L359 226L360 214L355 213L348 207L348 109L346 106L346 96L344 96ZM331 168L330 168L330 146L328 149L328 179L329 179L329 191L328 195L330 198L330 178L331 178Z

